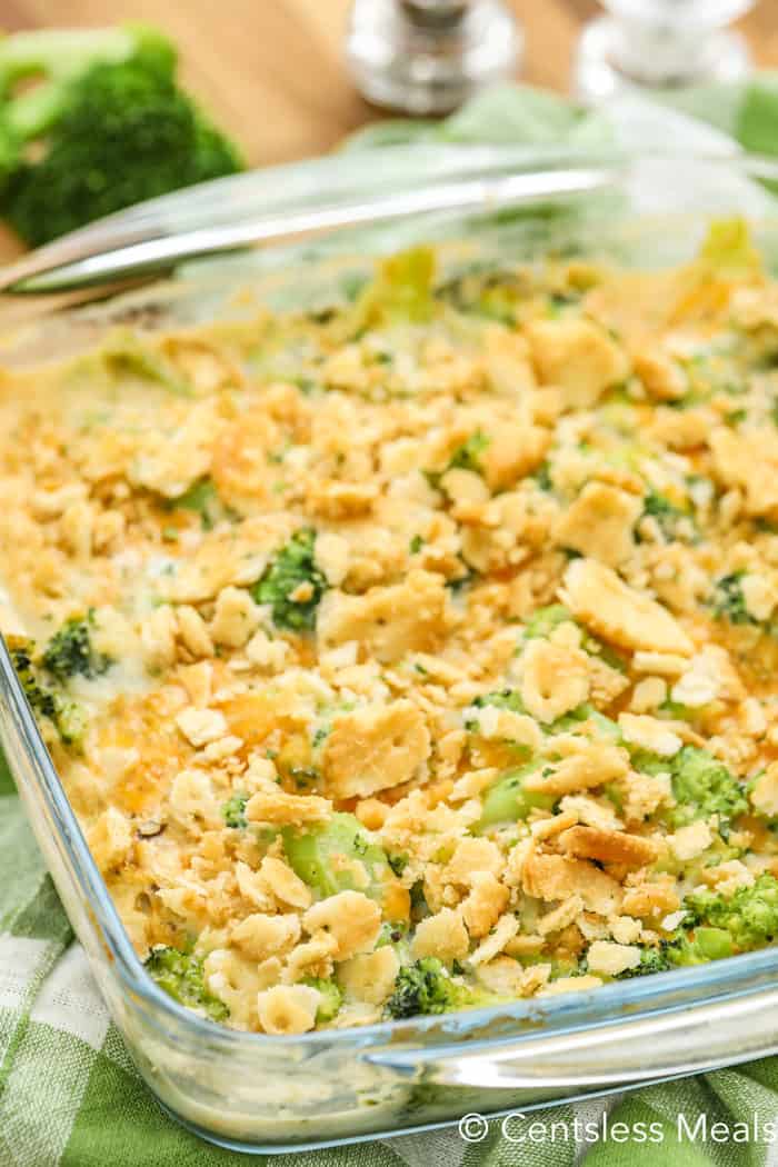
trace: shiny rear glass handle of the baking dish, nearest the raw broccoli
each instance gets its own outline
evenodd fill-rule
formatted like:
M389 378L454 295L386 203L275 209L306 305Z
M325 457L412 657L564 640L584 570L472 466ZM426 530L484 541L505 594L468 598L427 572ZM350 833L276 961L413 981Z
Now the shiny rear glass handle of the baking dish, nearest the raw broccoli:
M502 177L479 176L446 182L418 190L388 195L342 198L331 205L274 211L252 219L216 226L204 226L180 235L156 238L118 237L99 253L84 253L83 242L68 246L66 238L55 244L56 251L20 260L0 272L0 292L48 294L104 285L118 279L169 268L195 257L232 251L259 243L274 243L300 236L334 231L369 223L409 218L430 211L477 211L531 203L540 198L574 195L612 184L618 166L612 169L579 167L569 170L538 170Z

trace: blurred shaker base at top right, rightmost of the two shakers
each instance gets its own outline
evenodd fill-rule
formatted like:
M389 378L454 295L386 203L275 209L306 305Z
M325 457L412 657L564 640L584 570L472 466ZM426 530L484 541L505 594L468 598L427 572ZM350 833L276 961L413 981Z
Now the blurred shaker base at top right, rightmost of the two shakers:
M584 102L625 90L738 81L751 69L744 39L727 26L755 0L602 0L584 28L574 89Z

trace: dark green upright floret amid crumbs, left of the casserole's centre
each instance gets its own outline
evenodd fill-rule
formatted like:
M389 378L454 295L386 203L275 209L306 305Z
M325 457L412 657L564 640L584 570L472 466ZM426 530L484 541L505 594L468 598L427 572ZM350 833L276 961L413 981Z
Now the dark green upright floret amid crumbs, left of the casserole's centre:
M316 608L328 584L316 566L315 544L316 532L310 527L297 531L253 587L254 600L271 605L279 628L304 633L316 627ZM297 588L304 588L304 596L295 600Z

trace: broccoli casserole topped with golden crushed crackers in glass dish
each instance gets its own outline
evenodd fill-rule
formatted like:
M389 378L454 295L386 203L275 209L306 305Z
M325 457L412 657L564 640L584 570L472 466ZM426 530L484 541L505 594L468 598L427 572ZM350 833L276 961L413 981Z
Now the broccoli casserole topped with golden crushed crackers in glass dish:
M1 624L128 935L269 1034L778 934L778 285L416 249L2 373Z

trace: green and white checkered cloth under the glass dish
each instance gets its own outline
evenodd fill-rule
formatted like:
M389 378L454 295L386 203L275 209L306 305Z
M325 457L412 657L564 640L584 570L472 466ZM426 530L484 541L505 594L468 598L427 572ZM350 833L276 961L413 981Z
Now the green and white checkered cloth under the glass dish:
M689 148L717 149L731 147L735 138L778 154L778 82L771 77L745 88L693 91L682 112L679 105L630 99L605 117L507 86L482 95L447 123L381 123L349 148L418 138L602 146L629 140L639 126L643 147L653 139L661 148L670 137ZM507 1132L495 1119L479 1141L468 1142L456 1128L399 1132L267 1161L279 1167L289 1161L299 1167L573 1167L584 1161L586 1167L778 1167L778 1058L538 1111L512 1119ZM73 939L12 780L0 768L0 1167L245 1162L177 1126L141 1082Z

